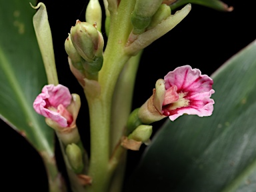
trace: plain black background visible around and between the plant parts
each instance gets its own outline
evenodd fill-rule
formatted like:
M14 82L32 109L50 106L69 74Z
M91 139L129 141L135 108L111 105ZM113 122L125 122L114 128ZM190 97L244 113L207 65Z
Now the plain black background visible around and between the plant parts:
M65 3L64 3L65 2ZM135 84L133 109L142 105L152 93L155 81L181 65L191 65L211 75L232 55L255 39L255 8L253 1L225 1L232 5L231 13L218 12L207 7L192 5L189 15L169 33L149 45L143 52ZM71 93L81 95L83 107L77 119L82 127L87 118L87 104L83 90L69 71L64 41L76 19L85 21L87 1L43 1L47 6L53 33L53 45L59 82L69 87ZM256 54L256 53L255 53ZM255 74L256 75L256 74ZM85 117L87 119L85 119ZM47 177L43 162L23 137L0 122L2 188L5 191L47 191ZM161 122L163 123L163 122ZM154 124L154 130L161 123ZM89 130L80 129L84 144L89 149ZM145 147L143 147L145 148ZM129 152L127 175L139 161L140 152ZM63 171L63 162L57 146L57 160ZM65 175L65 171L63 172ZM34 187L38 188L34 188ZM38 189L38 190L37 190Z

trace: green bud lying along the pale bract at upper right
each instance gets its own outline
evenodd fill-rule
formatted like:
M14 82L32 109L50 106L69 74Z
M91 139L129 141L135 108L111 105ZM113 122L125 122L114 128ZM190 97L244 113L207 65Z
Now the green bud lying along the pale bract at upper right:
M162 4L159 9L157 9L155 15L153 15L151 18L151 23L149 27L147 27L147 30L154 28L157 24L161 23L161 21L165 20L170 15L171 8L166 4Z

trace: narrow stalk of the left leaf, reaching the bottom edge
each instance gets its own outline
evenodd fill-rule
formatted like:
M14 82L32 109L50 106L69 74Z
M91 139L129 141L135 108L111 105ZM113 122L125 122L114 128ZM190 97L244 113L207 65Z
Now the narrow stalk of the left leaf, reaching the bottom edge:
M67 191L63 178L58 171L54 157L49 157L48 153L40 153L45 169L47 171L49 191L50 192L65 192Z

